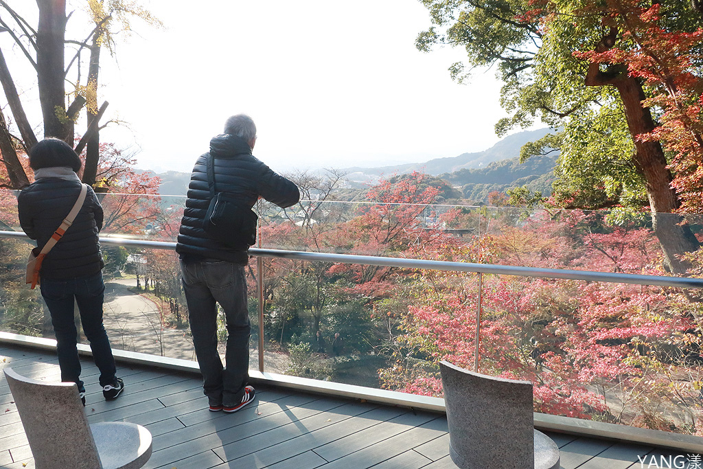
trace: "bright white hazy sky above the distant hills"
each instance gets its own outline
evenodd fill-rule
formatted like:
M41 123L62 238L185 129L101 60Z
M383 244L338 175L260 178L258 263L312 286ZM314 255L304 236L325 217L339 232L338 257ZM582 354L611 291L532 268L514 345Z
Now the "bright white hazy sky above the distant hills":
M416 0L143 3L166 29L134 21L116 63L103 52L99 93L106 117L129 123L103 141L138 150L144 169L189 172L236 113L257 123L254 155L280 171L419 162L498 141L494 70L459 85L447 68L462 50L417 51L430 19Z

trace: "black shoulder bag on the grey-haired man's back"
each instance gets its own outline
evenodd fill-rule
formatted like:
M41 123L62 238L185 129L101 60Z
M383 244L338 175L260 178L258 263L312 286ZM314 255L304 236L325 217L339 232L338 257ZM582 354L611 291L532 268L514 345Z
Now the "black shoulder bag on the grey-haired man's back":
M207 185L210 205L202 228L229 248L247 250L257 240L257 214L245 207L236 195L215 189L214 157L207 156Z

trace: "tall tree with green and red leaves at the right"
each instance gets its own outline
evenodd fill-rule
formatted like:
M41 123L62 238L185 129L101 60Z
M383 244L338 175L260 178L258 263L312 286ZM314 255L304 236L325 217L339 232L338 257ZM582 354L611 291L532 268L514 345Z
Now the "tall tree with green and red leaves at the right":
M687 82L687 89L700 90L700 45L682 41L686 34L700 34L699 12L683 0L654 10L629 0L423 3L435 26L418 37L420 49L437 43L460 45L471 65L498 65L505 82L502 104L512 115L498 122L496 130L502 133L536 119L562 128L557 137L548 136L532 147L537 150L532 153L538 153L539 143L560 146L556 173L562 180L557 192L605 190L626 205L646 196L666 265L683 274L686 265L679 256L697 249L698 243L685 219L668 214L680 210L687 195L683 185L676 186L678 191L672 188L677 174L671 169L676 168L669 167L665 153L673 150L672 139L664 139L659 131L681 119L657 122L657 117L672 110L671 100L678 96L672 83ZM672 68L671 60L683 65ZM453 65L451 72L457 79L466 77L461 64ZM699 119L695 110L699 113L700 98L692 96L678 101L679 117ZM678 152L680 167L699 158L695 136L692 142Z

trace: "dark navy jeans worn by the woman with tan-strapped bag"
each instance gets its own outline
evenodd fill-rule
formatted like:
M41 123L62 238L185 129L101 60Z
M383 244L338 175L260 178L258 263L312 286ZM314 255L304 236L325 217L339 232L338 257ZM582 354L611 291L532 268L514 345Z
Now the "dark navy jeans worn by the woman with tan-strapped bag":
M115 384L115 359L112 357L108 333L103 327L103 298L105 284L103 274L67 278L65 280L41 279L41 296L51 313L51 323L56 333L56 352L61 380L73 382L84 392L81 362L76 348L76 324L73 321L74 300L78 305L81 324L93 351L93 360L100 370L100 385Z

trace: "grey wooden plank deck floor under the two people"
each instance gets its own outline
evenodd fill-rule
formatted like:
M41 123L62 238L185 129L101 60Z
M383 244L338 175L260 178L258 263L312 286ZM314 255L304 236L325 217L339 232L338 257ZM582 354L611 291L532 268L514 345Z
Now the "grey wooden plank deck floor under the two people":
M153 456L146 468L456 468L446 418L437 413L305 394L273 387L233 414L209 412L199 376L119 366L125 391L103 400L97 368L82 361L91 423L124 420L146 426ZM0 368L59 380L56 356L0 345ZM550 433L564 469L648 467L647 446ZM640 465L638 456L647 463ZM0 373L0 467L33 468L32 453L4 375ZM649 466L654 467L654 466Z

